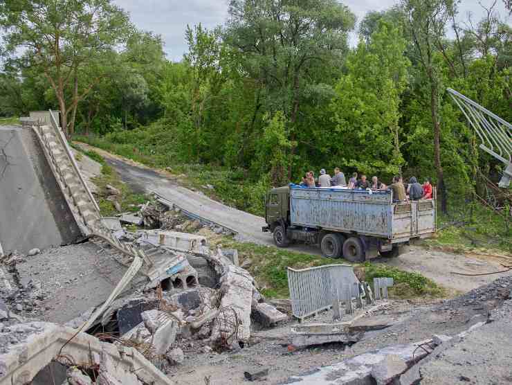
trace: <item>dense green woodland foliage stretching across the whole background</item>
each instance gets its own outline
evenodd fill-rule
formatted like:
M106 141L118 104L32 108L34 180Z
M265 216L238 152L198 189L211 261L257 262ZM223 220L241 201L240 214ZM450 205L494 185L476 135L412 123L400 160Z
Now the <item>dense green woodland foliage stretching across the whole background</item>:
M340 1L232 0L226 24L188 28L170 62L109 0L6 0L0 116L59 108L68 132L125 155L230 170L244 208L335 166L432 177L446 208L499 166L446 88L512 121L511 27L493 7L460 22L457 1L401 0L369 12L350 48L356 18Z

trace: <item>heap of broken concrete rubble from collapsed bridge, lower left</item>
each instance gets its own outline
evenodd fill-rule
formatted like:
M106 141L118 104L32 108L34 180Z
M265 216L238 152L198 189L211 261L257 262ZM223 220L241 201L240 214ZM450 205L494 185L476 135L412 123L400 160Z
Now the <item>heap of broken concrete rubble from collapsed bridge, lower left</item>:
M116 195L113 189L111 193ZM24 381L37 375L53 359L55 362L64 364L64 367L60 368L61 383L64 384L142 384L141 379L137 377L138 374L121 369L122 365L119 364L125 357L124 352L134 351L136 354L132 359L141 360L146 378L152 376L151 381L147 383L171 384L172 382L163 373L170 366L180 365L183 362L185 359L183 346L186 346L190 352L190 346L193 344L198 353L207 354L211 354L214 350L218 352L239 350L243 343L250 339L252 321L259 323L260 327L269 328L288 319L286 314L264 302L253 277L248 271L237 266L237 250L223 250L218 247L212 251L208 248L206 238L199 235L159 229L131 232L122 227L122 223L146 226L154 224L156 221L148 218L155 213L162 216L166 211L165 208L155 208L148 203L143 206L143 210L138 215L122 214L120 217L102 218L102 224L115 234L116 238L122 242L138 244L138 247L147 254L150 263L140 269L137 278L132 279L131 285L122 296L104 307L102 314L89 323L89 330L81 330L81 328L94 313L95 307L90 307L91 305L89 308L78 307L80 312L73 310L66 313L68 315L62 319L62 323L66 323L66 326L26 323L19 316L15 316L10 310L10 305L15 305L16 309L19 307L20 310L17 310L19 314L37 316L36 312L33 314L26 312L25 307L31 306L36 309L37 303L41 301L37 299L28 302L25 298L27 296L45 298L48 295L44 276L37 271L37 258L47 258L50 262L53 255L46 256L46 251L40 255L38 250L30 256L35 259L30 260L30 265L27 267L24 266L24 262L20 264L20 261L24 261L24 256L12 254L8 256L7 261L12 261L10 262L12 271L18 274L18 269L21 269L22 274L19 278L20 288L16 290L17 284L15 284L15 287L11 287L12 290L5 295L20 298L20 302L4 303L0 298L0 321L7 320L8 323L13 324L10 328L0 329L2 331L0 345L19 344L20 349L30 350L33 348L33 341L39 341L39 337L33 339L31 337L33 335L44 335L41 338L45 341L54 337L60 341L62 335L75 334L76 330L81 330L75 337L72 334L69 335L70 338L73 337L71 342L66 344L66 341L62 341L60 345L60 347L65 345L63 352L68 348L73 353L71 362L63 361L58 352L51 352L50 355L45 352L44 361L30 362L30 373L24 371ZM131 263L126 256L119 256L116 249L110 247L107 242L91 243L90 247L84 249L84 253L91 253L93 249L98 249L97 253L100 255L107 253L108 250L111 260L118 264ZM86 259L82 260L86 261ZM192 263L198 270L192 266ZM80 264L76 266L77 273L85 268L85 265L84 267ZM112 269L119 269L119 267L112 265ZM117 276L122 276L124 271L125 269L121 269ZM203 277L201 280L210 283L208 285L210 287L200 284L198 271L201 271ZM205 280L205 277L208 279ZM66 285L76 282L77 290L80 291L80 279L76 281L59 279L64 280ZM102 290L107 287L102 287ZM91 334L99 333L98 335L102 336L104 341L85 334L86 331ZM95 350L97 354L93 354L89 361L85 358L80 361L87 362L87 367L77 366L75 365L77 358L88 353L89 348L80 345L81 341L85 340L90 340L91 344L98 346ZM14 351L10 349L4 352L0 349L2 354L0 384L2 385L10 384L11 381L17 384L16 373L24 369L21 368L24 362L5 356L5 354L14 354ZM109 352L117 352L117 356L112 358ZM97 368L95 369L97 377L90 377L89 367ZM51 371L49 370L48 373Z

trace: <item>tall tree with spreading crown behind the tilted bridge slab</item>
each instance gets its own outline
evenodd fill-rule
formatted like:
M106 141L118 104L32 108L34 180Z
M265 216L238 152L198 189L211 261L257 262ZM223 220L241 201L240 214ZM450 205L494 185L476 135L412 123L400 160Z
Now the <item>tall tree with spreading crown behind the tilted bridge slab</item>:
M131 28L127 14L110 0L5 0L0 26L8 51L23 49L30 66L48 79L66 134L73 134L78 102L104 75L95 64L125 42ZM84 67L95 74L79 89Z

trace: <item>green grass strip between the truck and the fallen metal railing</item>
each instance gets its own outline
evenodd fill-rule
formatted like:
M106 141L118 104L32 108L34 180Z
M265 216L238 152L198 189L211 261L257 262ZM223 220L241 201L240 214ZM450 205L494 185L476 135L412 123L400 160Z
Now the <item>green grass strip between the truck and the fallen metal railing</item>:
M237 249L241 261L247 259L252 261L247 270L262 287L262 294L269 298L289 297L286 267L304 269L321 265L349 263L342 259L333 260L287 249L241 243L230 238L223 238L218 242L223 247ZM376 277L393 278L394 287L390 289L392 298L442 298L446 296L445 290L429 278L419 273L410 273L395 267L389 267L383 263L365 262L356 264L354 265L354 271L361 279L365 279L369 283L373 283L373 279Z

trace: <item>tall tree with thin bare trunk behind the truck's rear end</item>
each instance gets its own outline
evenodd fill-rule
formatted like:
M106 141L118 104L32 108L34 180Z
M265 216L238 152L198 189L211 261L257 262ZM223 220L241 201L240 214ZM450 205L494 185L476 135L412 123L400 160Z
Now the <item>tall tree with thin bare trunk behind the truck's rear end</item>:
M430 115L434 133L434 163L441 192L441 211L448 211L443 166L441 165L441 121L439 116L441 82L435 61L436 43L445 35L445 26L455 11L453 0L402 0L408 17L408 30L414 47L412 55L426 75L430 91Z

